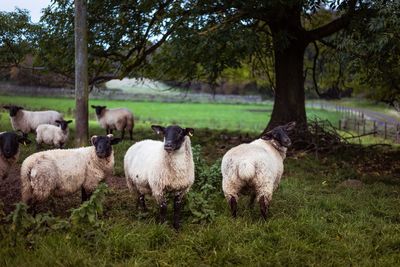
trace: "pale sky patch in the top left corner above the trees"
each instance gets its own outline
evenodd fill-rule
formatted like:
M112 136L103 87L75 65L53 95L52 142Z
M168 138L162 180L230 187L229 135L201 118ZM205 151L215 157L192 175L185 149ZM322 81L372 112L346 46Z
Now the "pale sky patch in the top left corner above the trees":
M27 9L32 22L38 22L42 9L50 2L51 0L0 0L0 11L14 11L15 7Z

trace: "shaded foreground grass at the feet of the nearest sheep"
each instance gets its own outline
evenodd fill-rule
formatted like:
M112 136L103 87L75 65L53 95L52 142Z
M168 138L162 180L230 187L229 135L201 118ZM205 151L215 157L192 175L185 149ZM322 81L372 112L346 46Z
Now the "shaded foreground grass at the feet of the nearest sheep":
M362 159L359 153L348 154L357 157ZM154 203L144 214L126 190L115 190L107 197L102 228L31 233L14 247L5 234L0 265L397 266L398 180L376 181L377 174L359 173L360 162L348 158L289 158L267 222L257 208L247 208L246 197L240 199L238 218L231 219L218 190L212 202L215 221L191 223L186 212L183 229L176 233L156 223ZM366 185L338 187L348 178Z

